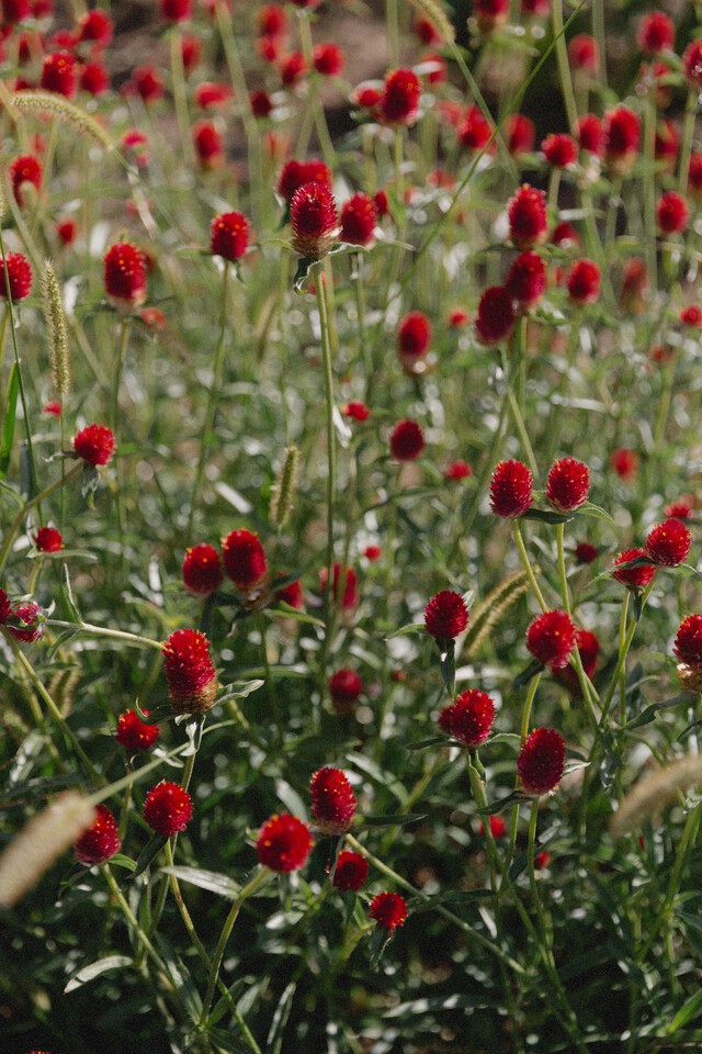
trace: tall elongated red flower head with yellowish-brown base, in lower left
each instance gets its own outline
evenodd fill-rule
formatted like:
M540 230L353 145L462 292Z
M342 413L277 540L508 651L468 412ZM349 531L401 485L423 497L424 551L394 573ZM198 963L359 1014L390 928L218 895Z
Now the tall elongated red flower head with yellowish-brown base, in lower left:
M163 641L168 698L178 714L203 714L214 705L217 674L210 642L197 629L177 629Z

